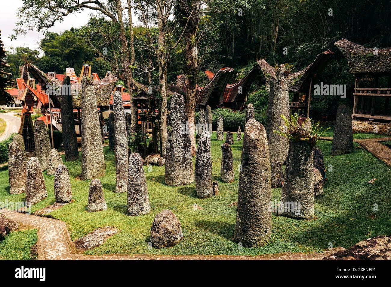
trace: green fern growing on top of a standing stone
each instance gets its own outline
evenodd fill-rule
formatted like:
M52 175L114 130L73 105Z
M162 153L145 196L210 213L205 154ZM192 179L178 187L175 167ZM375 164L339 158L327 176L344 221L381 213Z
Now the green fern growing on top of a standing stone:
M330 129L321 128L320 122L314 122L310 118L306 118L305 121L300 120L300 115L298 113L294 113L291 115L290 120L288 120L284 115L281 115L285 126L279 126L278 129L274 130L273 133L285 136L288 138L289 142L299 142L304 141L308 142L312 147L316 146L317 141L321 136L325 134L325 132ZM310 121L312 129L306 130L305 124Z

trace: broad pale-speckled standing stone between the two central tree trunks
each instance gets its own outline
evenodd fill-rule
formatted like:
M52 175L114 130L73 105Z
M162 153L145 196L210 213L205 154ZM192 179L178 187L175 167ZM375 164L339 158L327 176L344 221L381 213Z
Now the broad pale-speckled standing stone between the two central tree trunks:
M193 157L190 135L185 131L188 117L185 110L185 100L181 94L175 93L172 96L169 116L165 183L171 186L190 184L194 181Z

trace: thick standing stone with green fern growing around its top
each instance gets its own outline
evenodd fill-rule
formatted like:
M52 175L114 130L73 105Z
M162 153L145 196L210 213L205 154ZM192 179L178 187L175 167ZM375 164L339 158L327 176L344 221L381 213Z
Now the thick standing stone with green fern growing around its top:
M312 129L306 117L298 120L298 133L303 137ZM304 128L301 128L305 122ZM292 218L309 219L314 216L314 152L313 147L302 140L289 144L289 153L285 165L285 178L282 186L281 201L284 210L279 215ZM288 204L290 203L290 204ZM287 209L285 209L285 204ZM300 204L300 208L299 208ZM296 211L294 210L296 205Z

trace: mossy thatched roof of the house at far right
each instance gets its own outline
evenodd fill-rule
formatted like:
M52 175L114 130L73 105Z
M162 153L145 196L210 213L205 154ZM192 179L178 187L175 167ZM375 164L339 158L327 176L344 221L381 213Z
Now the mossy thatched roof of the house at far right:
M391 73L391 47L366 48L346 39L334 43L348 59L352 74ZM377 54L375 53L377 51Z

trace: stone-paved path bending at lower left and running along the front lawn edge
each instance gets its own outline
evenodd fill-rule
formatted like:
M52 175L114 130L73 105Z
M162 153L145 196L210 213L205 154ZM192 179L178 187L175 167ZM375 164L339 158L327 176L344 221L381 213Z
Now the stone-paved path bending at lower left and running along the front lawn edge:
M77 254L64 221L13 211L0 210L19 223L38 227L39 260L320 260L340 249L324 253L284 253L260 256L232 255L83 255Z

